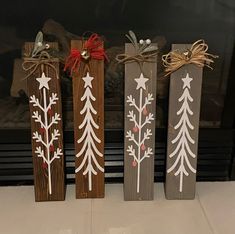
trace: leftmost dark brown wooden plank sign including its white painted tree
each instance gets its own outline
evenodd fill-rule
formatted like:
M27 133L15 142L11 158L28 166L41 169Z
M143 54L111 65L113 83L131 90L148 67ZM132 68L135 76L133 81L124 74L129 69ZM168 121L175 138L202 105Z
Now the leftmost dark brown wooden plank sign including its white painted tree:
M27 54L33 48L34 43L25 43ZM23 64L28 76L36 201L65 199L59 60L49 60L24 57Z

